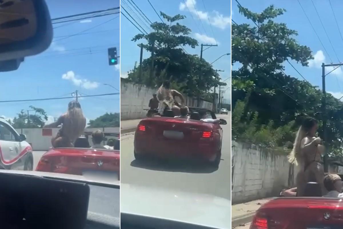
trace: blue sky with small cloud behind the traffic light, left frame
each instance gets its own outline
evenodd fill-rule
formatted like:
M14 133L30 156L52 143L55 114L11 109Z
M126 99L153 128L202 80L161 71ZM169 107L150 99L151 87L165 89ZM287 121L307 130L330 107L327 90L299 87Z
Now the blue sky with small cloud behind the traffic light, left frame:
M52 19L119 7L119 0L82 2L47 0ZM71 96L75 90L81 95L118 92L114 88L120 88L119 66L108 65L107 48L117 47L118 53L120 51L119 13L54 24L53 27L54 42L49 49L25 58L16 71L0 73L0 101ZM74 34L78 35L71 36ZM119 112L119 96L81 99L84 115L87 119L94 119L106 112ZM22 109L31 110L29 106L33 105L43 108L50 122L53 117L66 112L70 100L1 103L3 108L0 115L13 118Z

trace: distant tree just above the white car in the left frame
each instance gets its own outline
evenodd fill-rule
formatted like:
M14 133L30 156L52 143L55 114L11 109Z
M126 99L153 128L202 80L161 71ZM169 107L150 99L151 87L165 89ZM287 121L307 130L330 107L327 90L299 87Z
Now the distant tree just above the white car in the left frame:
M48 120L48 116L43 108L29 106L34 114L29 114L27 118L27 113L25 110L21 110L17 114L12 122L14 128L42 128L45 125L45 121Z

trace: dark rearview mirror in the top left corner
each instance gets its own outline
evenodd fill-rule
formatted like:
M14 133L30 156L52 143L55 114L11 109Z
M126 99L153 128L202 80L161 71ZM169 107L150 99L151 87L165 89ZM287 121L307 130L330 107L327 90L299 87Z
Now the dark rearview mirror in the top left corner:
M24 57L50 46L52 24L45 0L0 1L0 13L0 71L2 61L15 70Z

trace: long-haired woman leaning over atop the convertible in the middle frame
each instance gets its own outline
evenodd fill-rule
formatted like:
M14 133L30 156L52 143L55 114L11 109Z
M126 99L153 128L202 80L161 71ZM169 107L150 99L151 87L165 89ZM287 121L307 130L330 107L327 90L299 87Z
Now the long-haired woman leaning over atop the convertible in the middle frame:
M163 114L165 108L168 106L174 112L175 116L179 116L180 104L175 101L175 97L179 97L181 104L185 104L184 96L180 92L170 89L169 80L164 81L157 91L157 99L159 100L158 113Z

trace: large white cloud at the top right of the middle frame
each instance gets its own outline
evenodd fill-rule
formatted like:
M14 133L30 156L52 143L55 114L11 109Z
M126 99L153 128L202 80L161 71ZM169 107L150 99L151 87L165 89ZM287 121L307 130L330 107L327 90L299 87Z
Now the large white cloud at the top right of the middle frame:
M210 20L213 26L221 28L222 30L231 25L231 16L224 16L215 10L212 12L212 14L208 12L202 12L201 10L196 9L196 5L196 0L186 0L186 4L184 2L180 3L179 9L181 11L189 10L191 14L200 20L205 21L206 23L209 23Z

